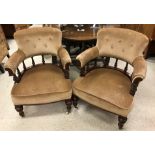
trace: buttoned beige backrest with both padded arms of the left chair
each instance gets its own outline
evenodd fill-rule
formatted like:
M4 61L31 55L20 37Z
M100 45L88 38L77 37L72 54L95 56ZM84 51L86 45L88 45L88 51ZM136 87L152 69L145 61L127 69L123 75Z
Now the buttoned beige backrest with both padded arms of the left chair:
M61 45L62 33L60 30L51 27L31 28L15 32L15 40L18 50L12 54L5 69L15 74L18 65L27 57L51 54L60 58L63 69L66 64L71 63L71 58Z

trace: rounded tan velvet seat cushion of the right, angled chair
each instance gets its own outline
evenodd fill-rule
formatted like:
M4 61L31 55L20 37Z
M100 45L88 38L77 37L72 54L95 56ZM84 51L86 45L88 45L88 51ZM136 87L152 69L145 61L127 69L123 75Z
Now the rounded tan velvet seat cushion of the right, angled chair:
M89 72L85 77L77 78L73 82L73 92L78 96L83 93L89 94L98 101L102 100L119 109L128 110L133 101L129 94L130 86L130 79L123 73L100 68ZM90 103L93 104L91 101Z

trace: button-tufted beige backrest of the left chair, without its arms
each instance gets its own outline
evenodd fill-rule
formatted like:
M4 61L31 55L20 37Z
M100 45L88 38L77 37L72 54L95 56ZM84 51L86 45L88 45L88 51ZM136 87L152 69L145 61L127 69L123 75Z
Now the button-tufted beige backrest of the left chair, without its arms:
M19 30L15 32L14 38L18 48L26 57L41 53L57 55L61 46L62 33L56 28L37 27Z

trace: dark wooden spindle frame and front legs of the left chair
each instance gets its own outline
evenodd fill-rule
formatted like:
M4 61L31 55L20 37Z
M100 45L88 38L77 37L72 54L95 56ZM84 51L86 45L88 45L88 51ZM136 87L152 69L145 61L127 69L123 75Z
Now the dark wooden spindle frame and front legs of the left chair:
M45 54L45 55L47 55L47 54ZM49 54L49 55L50 55L50 54ZM35 55L35 56L38 56L38 55ZM34 60L34 57L35 57L35 56L26 58L26 59L31 58L31 60L32 60L32 66L30 66L30 67L26 67L26 64L25 64L25 62L24 62L24 60L23 60L23 61L21 62L22 65L23 65L23 71L20 71L19 68L17 67L17 69L16 69L16 74L14 74L13 71L12 71L10 68L5 68L5 70L8 71L9 76L13 76L13 80L14 80L15 83L19 83L19 82L20 82L20 80L22 79L22 76L24 75L24 73L25 73L27 70L31 69L32 67L35 67L35 66L38 66L38 65L43 65L43 64L54 64L54 65L58 66L59 68L62 69L62 71L63 71L63 73L64 73L64 77L65 77L66 79L69 79L69 65L70 65L70 63L67 63L67 64L65 65L65 69L64 69L64 67L62 66L61 60L60 60L60 61L57 60L57 56L53 56L53 55L52 55L52 62L51 62L51 63L46 63L46 62L45 62L44 55L41 55L41 56L42 56L42 63L36 64L36 63L35 63L35 60ZM26 59L25 59L25 60L26 60ZM19 65L20 65L20 64L19 64ZM48 103L47 103L47 104L48 104ZM71 112L72 100L71 100L71 99L66 99L66 100L65 100L65 104L66 104L66 107L67 107L67 113L69 114L69 113ZM28 105L27 105L27 104L15 105L15 109L16 109L17 112L19 112L19 115L20 115L21 117L24 117L24 116L25 116L24 111L23 111L23 105L24 105L24 106L30 106L30 105L34 105L34 104L28 104ZM41 104L35 104L35 105L41 105Z

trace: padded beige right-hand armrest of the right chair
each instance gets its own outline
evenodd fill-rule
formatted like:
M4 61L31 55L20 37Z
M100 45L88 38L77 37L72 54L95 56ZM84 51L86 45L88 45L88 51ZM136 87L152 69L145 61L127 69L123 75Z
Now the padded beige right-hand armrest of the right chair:
M146 61L142 56L137 57L133 62L133 74L132 74L132 82L135 81L135 79L140 78L144 79L146 76Z

